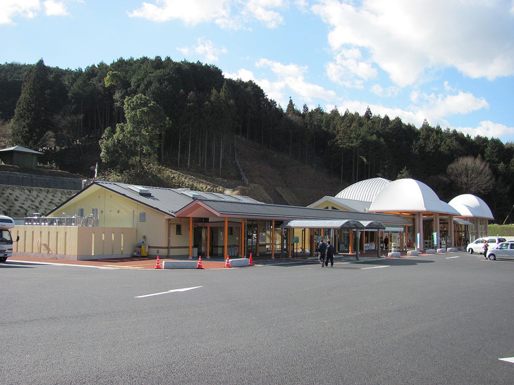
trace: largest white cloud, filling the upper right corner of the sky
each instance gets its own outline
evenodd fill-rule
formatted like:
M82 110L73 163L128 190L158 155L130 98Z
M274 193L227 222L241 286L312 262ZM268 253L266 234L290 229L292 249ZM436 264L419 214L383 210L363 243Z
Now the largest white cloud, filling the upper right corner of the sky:
M322 0L311 9L331 28L335 55L365 49L366 62L403 87L432 68L491 80L514 74L511 7L500 0ZM358 67L347 69L359 76Z

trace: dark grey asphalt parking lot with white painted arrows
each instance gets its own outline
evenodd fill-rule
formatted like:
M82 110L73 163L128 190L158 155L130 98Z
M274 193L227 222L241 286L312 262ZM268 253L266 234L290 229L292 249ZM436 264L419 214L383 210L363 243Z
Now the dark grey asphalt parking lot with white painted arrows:
M0 264L0 383L511 382L514 263L463 253L272 262Z

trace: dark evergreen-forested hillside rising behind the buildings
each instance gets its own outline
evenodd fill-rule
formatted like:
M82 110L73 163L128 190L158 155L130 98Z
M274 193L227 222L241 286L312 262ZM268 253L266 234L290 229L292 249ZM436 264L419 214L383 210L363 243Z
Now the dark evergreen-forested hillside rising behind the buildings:
M251 81L169 57L85 69L47 67L43 60L0 65L0 145L39 150L40 162L87 177L98 163L99 178L140 183L159 169L154 164L238 180L238 136L339 180L341 188L378 176L412 177L446 201L480 196L499 222L514 203L512 143L427 122L414 127L370 109L324 111L292 100L284 107Z

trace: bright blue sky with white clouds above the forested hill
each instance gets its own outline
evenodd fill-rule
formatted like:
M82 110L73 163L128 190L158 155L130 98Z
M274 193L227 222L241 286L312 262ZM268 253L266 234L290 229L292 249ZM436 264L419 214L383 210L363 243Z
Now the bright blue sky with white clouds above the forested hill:
M514 141L514 0L0 0L0 63L170 56L283 108Z

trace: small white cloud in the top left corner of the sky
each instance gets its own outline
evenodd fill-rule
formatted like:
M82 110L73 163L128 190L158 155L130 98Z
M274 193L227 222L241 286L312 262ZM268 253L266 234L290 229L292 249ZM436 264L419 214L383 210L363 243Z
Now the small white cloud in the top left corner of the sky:
M68 15L66 1L0 0L0 24L14 24L13 19L16 17L34 18L41 10L44 10L47 16ZM82 3L82 0L74 1Z

